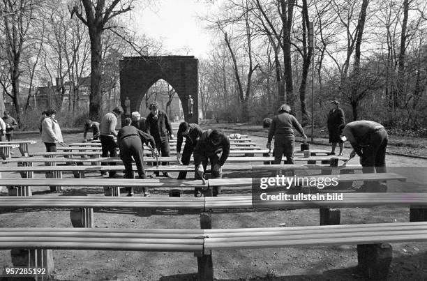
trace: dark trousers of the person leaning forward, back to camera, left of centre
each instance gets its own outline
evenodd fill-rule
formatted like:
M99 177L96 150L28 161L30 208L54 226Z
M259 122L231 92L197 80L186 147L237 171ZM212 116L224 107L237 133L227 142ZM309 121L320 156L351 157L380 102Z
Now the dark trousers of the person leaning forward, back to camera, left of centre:
M120 158L125 166L126 179L133 179L132 157L135 160L139 178L147 179L144 170L144 148L138 136L126 137L120 142ZM132 192L132 188L127 188L127 190ZM144 187L144 193L147 192L148 188Z

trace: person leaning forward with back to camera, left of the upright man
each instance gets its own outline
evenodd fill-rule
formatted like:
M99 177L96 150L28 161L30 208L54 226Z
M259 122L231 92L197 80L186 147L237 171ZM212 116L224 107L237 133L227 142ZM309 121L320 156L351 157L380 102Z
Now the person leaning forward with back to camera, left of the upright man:
M133 179L132 169L132 156L137 166L138 176L140 179L147 179L147 175L144 171L144 146L142 143L147 144L151 149L151 153L155 153L154 149L156 144L154 143L151 135L138 130L134 126L130 126L132 120L130 118L125 119L125 125L117 134L117 144L120 147L120 158L125 166L125 178ZM133 196L133 188L128 188L128 196ZM144 196L149 196L148 188L144 187Z

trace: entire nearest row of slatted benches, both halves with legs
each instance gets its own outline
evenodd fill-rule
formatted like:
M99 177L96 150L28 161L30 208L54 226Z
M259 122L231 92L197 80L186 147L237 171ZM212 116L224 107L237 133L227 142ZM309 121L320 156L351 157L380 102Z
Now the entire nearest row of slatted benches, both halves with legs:
M213 280L213 250L357 245L359 270L387 278L392 259L386 243L426 242L427 222L239 229L1 228L0 249L27 266L53 271L54 250L193 252L197 278ZM27 250L29 249L29 250ZM24 258L22 258L24 257ZM16 259L13 259L16 260Z

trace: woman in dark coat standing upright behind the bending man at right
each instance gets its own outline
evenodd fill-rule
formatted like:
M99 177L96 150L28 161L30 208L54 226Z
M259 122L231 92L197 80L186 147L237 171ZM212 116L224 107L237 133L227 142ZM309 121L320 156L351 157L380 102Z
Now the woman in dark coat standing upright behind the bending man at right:
M328 115L328 131L329 131L329 143L332 144L332 150L329 155L335 155L336 144L340 146L340 153L338 156L343 156L343 141L340 139L339 127L345 124L343 109L340 109L340 102L338 100L332 100L332 109Z

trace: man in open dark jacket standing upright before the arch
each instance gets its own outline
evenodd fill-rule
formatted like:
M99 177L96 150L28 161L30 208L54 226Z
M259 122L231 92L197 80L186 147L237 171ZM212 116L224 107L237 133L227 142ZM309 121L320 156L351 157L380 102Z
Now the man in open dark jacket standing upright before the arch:
M161 156L170 155L169 138L173 139L172 125L166 112L158 108L158 103L153 102L149 106L150 114L145 121L145 132L151 135L156 142L156 149L161 152ZM162 165L167 165L167 162L162 162ZM158 176L158 172L154 173ZM169 176L169 173L163 172L164 176Z

